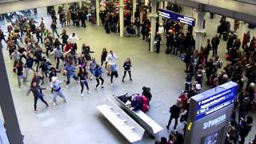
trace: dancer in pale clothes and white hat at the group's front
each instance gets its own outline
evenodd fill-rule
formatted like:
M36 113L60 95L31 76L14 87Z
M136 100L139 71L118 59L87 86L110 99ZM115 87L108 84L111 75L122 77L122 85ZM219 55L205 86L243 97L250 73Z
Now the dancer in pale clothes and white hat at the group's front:
M60 86L62 82L63 81L59 81L57 77L51 78L50 87L54 90L54 106L56 106L57 96L61 97L64 102L68 102L62 92L62 87Z

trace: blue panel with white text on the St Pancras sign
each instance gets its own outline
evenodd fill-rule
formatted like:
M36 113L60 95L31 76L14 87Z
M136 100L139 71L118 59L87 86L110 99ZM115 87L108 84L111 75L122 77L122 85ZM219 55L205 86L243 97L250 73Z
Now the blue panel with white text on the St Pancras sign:
M230 106L234 103L236 94L237 86L234 86L198 101L195 120L204 118L205 116L221 110L226 106Z

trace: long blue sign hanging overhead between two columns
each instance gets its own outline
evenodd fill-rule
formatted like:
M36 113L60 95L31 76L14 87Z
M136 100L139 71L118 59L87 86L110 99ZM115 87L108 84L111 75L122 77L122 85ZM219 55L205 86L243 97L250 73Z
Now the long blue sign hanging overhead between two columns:
M186 15L183 14L177 14L174 13L173 11L170 10L164 10L164 9L158 9L158 14L159 16L162 16L164 18L169 18L173 21L176 22L182 22L185 23L189 26L194 26L195 25L195 19L194 18L190 18Z

